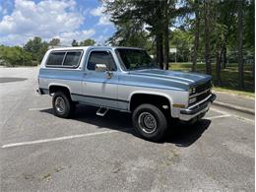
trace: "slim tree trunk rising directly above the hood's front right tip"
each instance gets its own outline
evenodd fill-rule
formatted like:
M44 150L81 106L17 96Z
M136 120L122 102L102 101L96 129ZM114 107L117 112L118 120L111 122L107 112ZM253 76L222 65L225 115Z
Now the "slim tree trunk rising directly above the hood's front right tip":
M210 29L209 29L209 2L204 2L204 21L205 21L205 63L206 73L212 75L212 66L210 61Z

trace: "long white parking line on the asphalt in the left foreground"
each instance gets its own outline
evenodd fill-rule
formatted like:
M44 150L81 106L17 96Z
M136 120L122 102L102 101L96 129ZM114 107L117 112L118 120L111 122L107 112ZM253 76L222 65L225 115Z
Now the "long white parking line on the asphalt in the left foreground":
M43 140L35 140L35 141L30 141L30 142L21 142L21 143L7 144L7 145L3 145L1 148L4 149L4 148L19 147L19 146L28 146L28 145L32 145L32 144L42 144L42 143L48 143L48 142L70 140L70 139L89 137L89 136L96 136L96 135L109 134L109 133L116 133L116 132L119 132L119 131L118 130L110 130L110 131L101 131L101 132L87 133L87 134L80 134L80 135L56 137L56 138L51 138L51 139L43 139Z

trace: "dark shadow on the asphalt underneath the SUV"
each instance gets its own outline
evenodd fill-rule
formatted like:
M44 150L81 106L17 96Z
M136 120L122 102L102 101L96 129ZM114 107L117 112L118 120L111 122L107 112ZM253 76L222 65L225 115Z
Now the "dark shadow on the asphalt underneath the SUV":
M97 109L94 106L78 105L72 120L89 123L99 129L108 128L139 137L133 129L131 113L109 110L105 116L101 117L96 115ZM40 112L53 115L52 108L43 109ZM166 132L165 138L160 143L172 143L177 147L189 147L203 135L210 124L211 121L207 119L202 119L194 125L173 122L169 127L170 129Z

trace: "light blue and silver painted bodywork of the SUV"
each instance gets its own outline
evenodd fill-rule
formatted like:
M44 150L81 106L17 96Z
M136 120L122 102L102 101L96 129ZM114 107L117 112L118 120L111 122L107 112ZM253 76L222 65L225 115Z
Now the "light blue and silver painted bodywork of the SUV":
M39 92L47 94L51 86L67 88L73 101L90 105L106 107L121 111L130 111L131 98L136 94L164 96L169 101L169 112L172 117L188 121L209 109L213 96L208 96L200 102L188 107L189 88L203 84L212 79L211 76L164 71L160 69L145 69L125 71L116 54L120 47L70 47L54 48L46 52L39 69ZM51 51L83 50L79 65L74 68L45 66ZM88 59L92 51L108 51L112 54L117 70L113 72L96 72L87 69ZM111 73L111 78L106 78ZM190 111L195 107L199 111ZM175 106L183 106L175 107ZM185 111L185 112L181 112Z

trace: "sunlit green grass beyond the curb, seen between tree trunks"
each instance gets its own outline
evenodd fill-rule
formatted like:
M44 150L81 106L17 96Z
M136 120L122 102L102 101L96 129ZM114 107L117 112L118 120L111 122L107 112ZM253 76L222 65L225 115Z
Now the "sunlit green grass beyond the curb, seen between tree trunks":
M170 70L191 72L192 63L170 63ZM212 64L212 71L214 77L214 84L216 85L216 66ZM205 64L197 64L197 72L205 73ZM252 77L252 66L250 64L244 65L244 90L238 89L238 65L237 63L230 63L222 69L222 86L215 86L214 90L218 92L228 92L240 96L254 97L254 79Z

